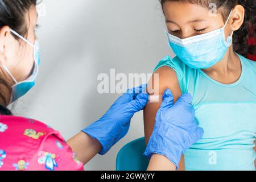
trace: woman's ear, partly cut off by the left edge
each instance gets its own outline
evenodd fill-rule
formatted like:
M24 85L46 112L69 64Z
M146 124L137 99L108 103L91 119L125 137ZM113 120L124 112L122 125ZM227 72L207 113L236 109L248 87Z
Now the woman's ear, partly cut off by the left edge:
M0 62L6 57L6 49L10 42L11 30L9 26L3 26L0 29Z

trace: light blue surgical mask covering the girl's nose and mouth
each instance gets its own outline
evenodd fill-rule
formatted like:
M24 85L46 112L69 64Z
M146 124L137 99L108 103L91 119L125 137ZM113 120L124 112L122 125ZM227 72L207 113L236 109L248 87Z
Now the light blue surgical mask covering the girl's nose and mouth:
M195 69L210 68L223 59L226 51L232 45L234 31L225 40L224 28L228 24L228 20L222 28L186 39L180 39L167 32L168 43L177 57L189 67Z

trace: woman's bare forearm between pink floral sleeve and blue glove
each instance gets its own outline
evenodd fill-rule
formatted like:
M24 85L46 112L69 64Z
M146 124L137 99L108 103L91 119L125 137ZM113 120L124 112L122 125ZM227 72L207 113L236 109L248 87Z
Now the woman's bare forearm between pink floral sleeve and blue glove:
M100 152L102 146L96 139L92 139L84 132L80 132L68 140L68 145L75 152L77 158L85 165Z

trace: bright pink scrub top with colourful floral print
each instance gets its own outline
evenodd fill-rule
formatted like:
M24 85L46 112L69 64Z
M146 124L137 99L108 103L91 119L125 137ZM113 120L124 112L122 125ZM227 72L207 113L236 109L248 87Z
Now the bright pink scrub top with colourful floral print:
M0 171L82 171L59 131L34 119L0 115Z

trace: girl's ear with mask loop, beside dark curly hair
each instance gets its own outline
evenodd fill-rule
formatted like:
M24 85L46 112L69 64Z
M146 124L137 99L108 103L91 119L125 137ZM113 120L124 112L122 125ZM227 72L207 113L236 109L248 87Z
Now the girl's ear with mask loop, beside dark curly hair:
M245 9L241 5L237 5L234 7L234 13L232 16L232 30L237 31L242 26L244 20L245 20Z

